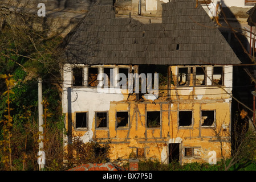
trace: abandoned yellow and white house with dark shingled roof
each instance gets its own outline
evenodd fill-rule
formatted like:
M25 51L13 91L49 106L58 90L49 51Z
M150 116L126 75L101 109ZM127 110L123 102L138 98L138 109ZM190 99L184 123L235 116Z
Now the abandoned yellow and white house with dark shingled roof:
M241 61L196 0L163 3L161 23L117 18L113 6L96 5L63 45L67 142L110 140L111 159L221 158L213 131L229 136L233 65ZM111 78L107 92L99 92L101 73ZM143 73L152 82L143 83ZM121 80L133 92L113 91ZM145 84L151 89L142 92ZM229 143L222 147L229 156Z

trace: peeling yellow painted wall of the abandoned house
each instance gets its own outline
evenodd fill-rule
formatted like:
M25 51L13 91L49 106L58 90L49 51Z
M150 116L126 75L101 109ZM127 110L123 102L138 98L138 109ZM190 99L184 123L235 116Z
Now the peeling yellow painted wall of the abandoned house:
M173 77L177 67L172 67ZM226 76L226 75L225 75ZM225 77L227 80L229 77ZM230 84L230 82L229 82ZM225 124L226 130L221 130L223 136L229 135L230 130L230 95L223 88L217 86L199 87L171 86L170 100L166 100L166 90L159 99L152 101L136 101L135 97L125 95L124 101L111 102L108 110L108 129L97 129L92 124L93 137L101 141L111 140L111 159L129 159L136 157L136 148L143 148L145 158L154 158L168 163L168 144L180 143L180 156L182 163L208 162L209 152L216 151L220 160L220 142L214 136L214 129L219 130ZM178 111L193 110L192 126L178 126ZM216 123L214 127L201 126L201 110L215 110ZM129 126L116 129L116 111L129 112ZM147 111L161 111L161 126L147 128ZM72 122L74 122L74 113ZM68 117L67 117L68 118ZM68 121L67 121L68 122ZM88 130L75 130L73 136L83 136ZM184 147L194 147L194 156L185 157ZM230 155L229 143L224 145L226 156Z

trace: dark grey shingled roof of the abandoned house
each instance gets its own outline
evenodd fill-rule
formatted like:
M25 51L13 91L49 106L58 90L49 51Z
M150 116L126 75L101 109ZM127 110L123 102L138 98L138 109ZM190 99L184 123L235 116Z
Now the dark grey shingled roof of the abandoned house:
M115 18L112 6L94 6L67 36L64 48L67 63L241 63L202 6L196 8L196 0L162 4L162 23L150 24Z

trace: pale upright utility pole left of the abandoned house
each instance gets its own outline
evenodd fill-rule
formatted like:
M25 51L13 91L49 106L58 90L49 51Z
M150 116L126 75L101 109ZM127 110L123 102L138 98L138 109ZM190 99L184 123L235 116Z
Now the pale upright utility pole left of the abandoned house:
M38 131L39 131L39 151L38 159L39 171L44 168L45 154L43 151L43 91L42 91L42 79L38 78Z

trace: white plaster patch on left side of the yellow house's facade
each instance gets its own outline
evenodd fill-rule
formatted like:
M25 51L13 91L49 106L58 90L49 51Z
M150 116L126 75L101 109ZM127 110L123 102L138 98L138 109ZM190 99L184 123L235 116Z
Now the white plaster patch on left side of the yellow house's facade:
M97 93L97 88L86 86L71 87L72 67L65 64L63 67L63 113L74 113L76 111L88 111L88 131L82 137L84 142L92 138L92 124L94 123L95 111L108 111L110 102L124 100L123 94ZM71 87L71 98L68 98L68 87ZM68 106L68 100L71 104Z

